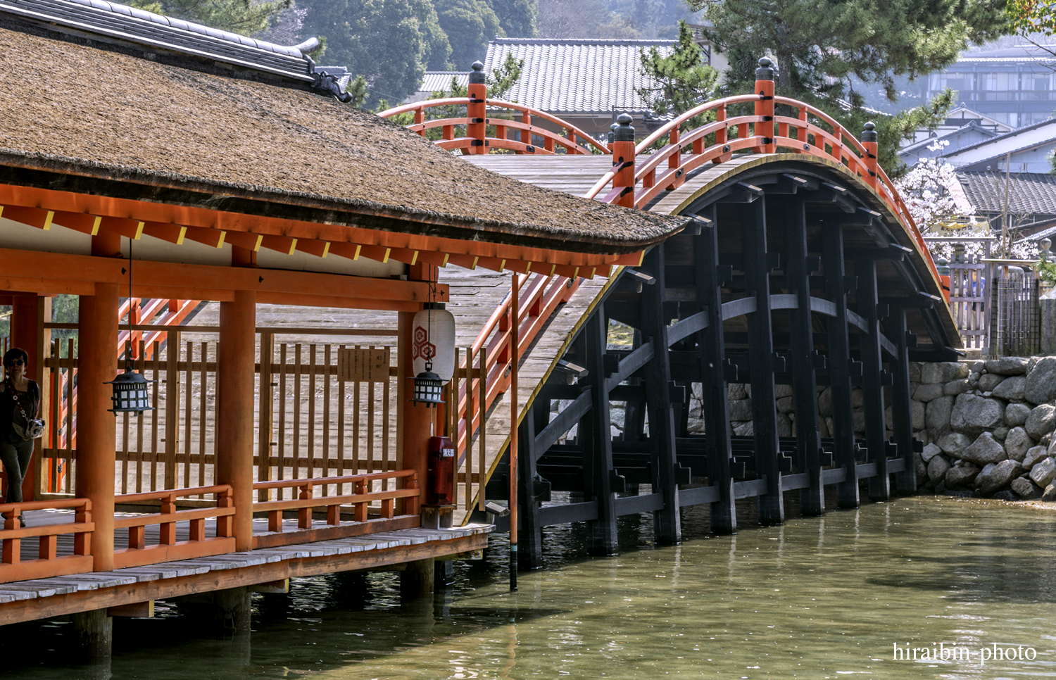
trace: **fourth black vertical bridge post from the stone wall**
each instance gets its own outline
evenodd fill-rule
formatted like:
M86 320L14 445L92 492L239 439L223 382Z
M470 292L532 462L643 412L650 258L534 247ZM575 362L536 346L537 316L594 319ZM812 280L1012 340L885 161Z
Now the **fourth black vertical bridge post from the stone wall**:
M817 379L810 299L810 275L813 272L810 265L813 263L807 257L807 209L802 201L789 202L785 211L785 244L786 273L798 302L792 311L790 359L797 461L799 472L807 475L808 481L799 491L799 507L805 515L821 515L825 514L825 487L822 484L822 433L817 430Z

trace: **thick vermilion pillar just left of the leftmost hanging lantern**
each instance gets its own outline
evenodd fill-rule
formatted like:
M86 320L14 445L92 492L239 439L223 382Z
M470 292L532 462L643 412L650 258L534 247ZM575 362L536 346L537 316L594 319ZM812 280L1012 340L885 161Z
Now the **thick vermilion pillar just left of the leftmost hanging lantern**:
M92 502L92 558L96 571L114 568L114 443L110 413L117 375L117 284L95 284L78 304L77 495Z

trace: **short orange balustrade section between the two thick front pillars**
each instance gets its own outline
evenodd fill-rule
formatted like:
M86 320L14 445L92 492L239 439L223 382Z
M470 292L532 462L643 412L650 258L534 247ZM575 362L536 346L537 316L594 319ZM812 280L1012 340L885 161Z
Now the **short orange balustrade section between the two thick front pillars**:
M193 508L176 510L176 498L216 494L215 508ZM129 493L114 496L115 504L135 505L161 500L161 512L137 514L114 518L115 529L128 529L128 548L114 550L114 567L138 567L171 560L190 560L234 551L231 515L234 514L234 498L231 486L222 484L212 487L169 489L147 493ZM206 520L215 517L215 531L206 537ZM176 523L189 522L190 529L185 541L177 540ZM156 544L147 544L147 527L157 526Z

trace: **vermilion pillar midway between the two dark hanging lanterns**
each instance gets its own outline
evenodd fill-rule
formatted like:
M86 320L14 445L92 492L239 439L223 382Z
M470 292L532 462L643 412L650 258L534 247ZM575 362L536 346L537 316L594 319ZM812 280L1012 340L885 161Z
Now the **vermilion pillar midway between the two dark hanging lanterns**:
M234 549L253 543L253 364L257 294L237 290L220 303L216 377L216 484L234 497ZM267 452L262 452L266 455Z

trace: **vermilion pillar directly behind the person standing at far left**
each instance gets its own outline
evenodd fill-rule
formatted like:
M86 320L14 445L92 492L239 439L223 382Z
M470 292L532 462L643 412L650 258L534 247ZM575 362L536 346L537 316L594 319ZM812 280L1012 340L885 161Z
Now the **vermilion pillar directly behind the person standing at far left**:
M44 322L52 320L52 299L37 295L15 295L12 299L11 315L11 346L21 347L29 355L30 362L25 377L36 380L40 385L40 410L49 424L48 404L51 403L51 382L44 370L44 358L48 356L48 345L51 341L51 330L44 329ZM32 415L32 414L27 414ZM41 456L49 433L36 440L33 451L33 462L25 471L22 479L22 497L33 500L38 497L40 485L37 472L41 470Z

